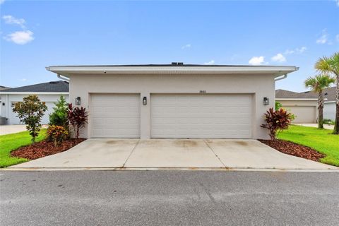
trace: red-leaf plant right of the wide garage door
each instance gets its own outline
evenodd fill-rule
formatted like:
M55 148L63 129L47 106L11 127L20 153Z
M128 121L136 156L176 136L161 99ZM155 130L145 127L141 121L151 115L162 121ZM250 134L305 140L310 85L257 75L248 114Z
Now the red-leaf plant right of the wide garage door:
M261 127L268 129L271 141L275 141L278 133L288 129L291 124L292 114L287 113L283 108L274 111L271 107L264 115L266 124L262 124Z

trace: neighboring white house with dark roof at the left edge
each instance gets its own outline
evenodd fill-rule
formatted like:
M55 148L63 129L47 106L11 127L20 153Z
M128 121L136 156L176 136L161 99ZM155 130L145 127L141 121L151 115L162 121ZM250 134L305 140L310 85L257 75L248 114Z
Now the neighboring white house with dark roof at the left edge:
M5 117L6 124L20 124L16 113L12 111L16 102L23 101L23 97L35 94L41 101L46 102L47 112L42 117L42 124L48 124L49 114L53 111L54 102L57 102L62 95L69 100L69 83L66 81L52 81L36 85L27 85L18 88L1 90L1 117Z

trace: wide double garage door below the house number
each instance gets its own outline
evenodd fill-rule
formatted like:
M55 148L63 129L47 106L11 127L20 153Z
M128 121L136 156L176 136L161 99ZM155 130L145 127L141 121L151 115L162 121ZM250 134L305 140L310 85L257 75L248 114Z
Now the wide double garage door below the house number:
M153 138L251 138L251 95L151 95Z

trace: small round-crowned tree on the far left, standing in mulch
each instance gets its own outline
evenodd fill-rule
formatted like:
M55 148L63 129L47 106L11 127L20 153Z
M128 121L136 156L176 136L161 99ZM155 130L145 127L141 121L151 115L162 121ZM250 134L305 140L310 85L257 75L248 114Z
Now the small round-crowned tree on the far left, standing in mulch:
M40 122L46 111L47 106L44 102L40 101L37 95L23 97L23 102L16 102L13 107L13 112L18 114L20 122L26 124L26 129L30 131L32 143L35 142L35 138L39 134L38 132L41 129Z

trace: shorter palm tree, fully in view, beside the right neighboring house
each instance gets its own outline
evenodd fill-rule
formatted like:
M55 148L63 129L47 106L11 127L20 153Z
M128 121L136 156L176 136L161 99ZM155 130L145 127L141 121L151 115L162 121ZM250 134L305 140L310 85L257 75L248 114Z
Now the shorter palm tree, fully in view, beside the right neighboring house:
M331 78L326 74L309 77L305 80L306 88L310 88L315 93L318 93L318 128L323 129L323 89L331 86L335 82L335 78Z

